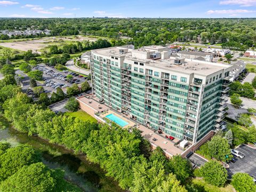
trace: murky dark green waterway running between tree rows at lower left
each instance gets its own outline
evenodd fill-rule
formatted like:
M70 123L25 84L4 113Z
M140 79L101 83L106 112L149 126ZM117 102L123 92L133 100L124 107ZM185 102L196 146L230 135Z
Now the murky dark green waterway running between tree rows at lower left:
M74 155L71 150L62 146L51 144L38 137L28 137L27 134L7 127L0 116L0 141L3 140L10 142L12 146L27 143L35 150L41 151L44 164L52 169L65 170L65 179L84 191L123 191L117 182L105 176L99 165L87 161L85 155Z

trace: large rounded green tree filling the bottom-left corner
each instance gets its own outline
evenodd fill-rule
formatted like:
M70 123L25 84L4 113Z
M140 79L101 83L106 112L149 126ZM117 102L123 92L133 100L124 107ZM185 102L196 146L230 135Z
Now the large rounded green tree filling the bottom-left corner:
M57 175L42 162L23 166L3 181L0 191L52 191L57 183Z

